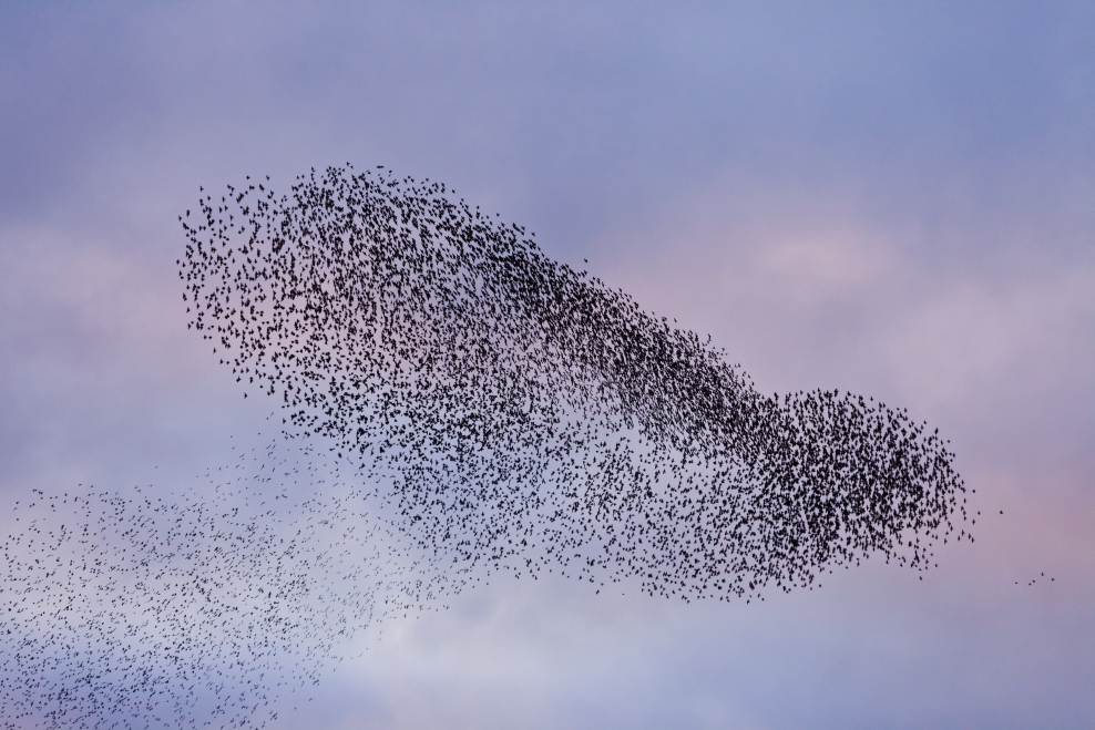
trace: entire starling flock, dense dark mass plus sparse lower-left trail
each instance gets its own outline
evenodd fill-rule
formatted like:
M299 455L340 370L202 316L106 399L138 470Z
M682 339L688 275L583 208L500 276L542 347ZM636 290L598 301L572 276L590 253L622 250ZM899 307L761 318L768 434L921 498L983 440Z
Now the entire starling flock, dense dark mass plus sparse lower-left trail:
M442 184L247 178L180 219L190 326L279 403L280 445L212 496L20 506L8 727L260 727L337 647L477 570L751 600L969 538L938 431L851 393L761 394Z

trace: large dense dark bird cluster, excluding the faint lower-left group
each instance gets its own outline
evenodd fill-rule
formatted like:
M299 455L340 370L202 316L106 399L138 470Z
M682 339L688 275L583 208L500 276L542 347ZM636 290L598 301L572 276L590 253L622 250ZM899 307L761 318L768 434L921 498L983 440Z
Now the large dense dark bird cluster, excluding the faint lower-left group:
M761 395L444 185L248 178L183 226L192 325L454 564L750 596L869 553L922 567L964 517L938 432L848 393Z

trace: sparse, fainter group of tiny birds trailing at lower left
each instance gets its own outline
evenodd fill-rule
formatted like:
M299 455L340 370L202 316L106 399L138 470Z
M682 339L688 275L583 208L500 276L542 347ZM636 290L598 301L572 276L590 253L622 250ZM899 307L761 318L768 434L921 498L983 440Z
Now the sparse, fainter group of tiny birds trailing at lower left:
M439 583L311 451L274 442L181 493L20 501L0 583L3 727L260 728L371 623L448 590L458 576Z

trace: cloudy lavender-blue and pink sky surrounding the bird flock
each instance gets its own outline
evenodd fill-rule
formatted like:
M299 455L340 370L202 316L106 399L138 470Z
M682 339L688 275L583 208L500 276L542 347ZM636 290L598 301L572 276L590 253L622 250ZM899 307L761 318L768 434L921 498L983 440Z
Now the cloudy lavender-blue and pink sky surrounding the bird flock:
M876 561L761 604L498 579L278 728L1091 727L1093 49L1091 2L4 2L0 526L33 486L178 490L269 431L185 328L176 216L382 164L761 391L908 407L984 516L923 580Z

